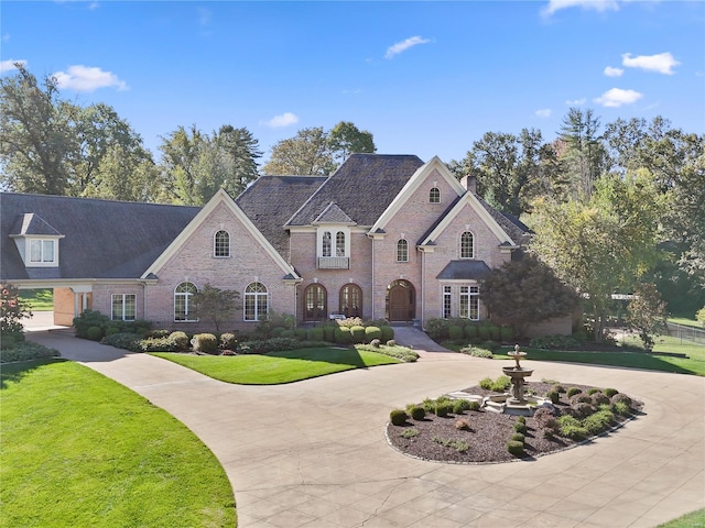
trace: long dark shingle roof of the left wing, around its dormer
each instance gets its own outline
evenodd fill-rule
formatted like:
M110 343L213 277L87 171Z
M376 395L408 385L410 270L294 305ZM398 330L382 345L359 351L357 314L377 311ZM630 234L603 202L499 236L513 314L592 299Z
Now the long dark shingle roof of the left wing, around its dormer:
M65 196L0 194L2 280L138 278L198 213L198 207L109 201ZM64 235L56 267L25 267L11 234L41 217ZM34 219L31 219L32 224ZM24 234L56 234L39 232Z

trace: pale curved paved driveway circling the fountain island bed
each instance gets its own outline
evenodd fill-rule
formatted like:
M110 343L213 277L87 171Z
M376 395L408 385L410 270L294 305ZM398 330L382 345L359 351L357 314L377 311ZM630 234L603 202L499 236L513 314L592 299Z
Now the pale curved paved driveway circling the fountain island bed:
M421 352L416 363L258 387L64 332L30 339L189 427L225 468L241 528L653 527L705 507L703 377L531 362L536 378L628 393L644 415L536 460L456 465L391 449L389 411L497 377L499 362Z

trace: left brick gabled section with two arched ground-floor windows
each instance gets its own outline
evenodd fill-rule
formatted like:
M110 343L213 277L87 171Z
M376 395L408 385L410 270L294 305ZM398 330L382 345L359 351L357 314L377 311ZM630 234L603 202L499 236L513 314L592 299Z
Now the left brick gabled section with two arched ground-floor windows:
M154 261L147 304L158 327L213 330L198 320L192 296L206 284L240 294L241 309L221 330L247 330L269 312L296 310L295 271L268 242L225 190L218 191Z

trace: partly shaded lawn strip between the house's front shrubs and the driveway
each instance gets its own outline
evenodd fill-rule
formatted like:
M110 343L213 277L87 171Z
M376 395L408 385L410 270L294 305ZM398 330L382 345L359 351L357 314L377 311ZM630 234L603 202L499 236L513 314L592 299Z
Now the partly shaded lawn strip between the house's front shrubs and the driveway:
M401 363L376 352L355 349L317 348L267 355L192 355L156 352L153 355L173 361L206 376L241 385L275 385L300 382L352 369Z

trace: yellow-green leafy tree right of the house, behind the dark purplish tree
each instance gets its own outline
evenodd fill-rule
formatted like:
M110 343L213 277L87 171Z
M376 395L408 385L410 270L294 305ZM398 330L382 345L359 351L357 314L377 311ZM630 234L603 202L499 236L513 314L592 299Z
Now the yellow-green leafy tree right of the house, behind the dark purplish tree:
M532 249L578 294L595 318L594 338L605 328L611 295L626 290L657 261L663 200L646 172L604 176L586 201L538 199Z

